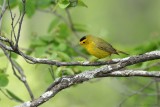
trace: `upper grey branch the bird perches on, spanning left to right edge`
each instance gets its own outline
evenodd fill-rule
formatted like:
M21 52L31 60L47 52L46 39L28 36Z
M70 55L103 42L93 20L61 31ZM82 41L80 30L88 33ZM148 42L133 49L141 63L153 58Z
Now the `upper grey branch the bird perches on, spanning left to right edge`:
M136 63L140 62L145 62L145 61L150 61L150 60L155 60L155 59L160 59L160 51L151 51L147 52L141 55L136 55L136 56L129 56L123 59L112 59L111 61L99 61L99 62L60 62L57 60L48 60L46 58L35 58L26 55L19 49L14 49L12 46L12 42L9 41L5 37L0 36L0 40L4 42L8 42L10 46L3 44L0 42L0 46L3 47L4 49L14 52L16 54L21 55L24 59L29 60L32 62L32 64L49 64L49 65L55 65L55 66L100 66L100 65L109 65L109 64L121 64L122 67L126 66L126 64L133 65Z

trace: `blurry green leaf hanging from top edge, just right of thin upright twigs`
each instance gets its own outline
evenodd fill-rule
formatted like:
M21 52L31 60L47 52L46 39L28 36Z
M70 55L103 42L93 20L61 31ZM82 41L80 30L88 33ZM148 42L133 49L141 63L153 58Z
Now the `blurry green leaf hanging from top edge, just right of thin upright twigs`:
M36 0L26 0L26 14L31 17L35 13Z

